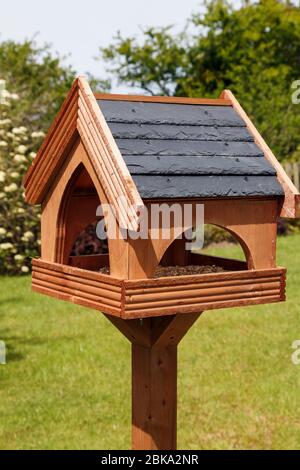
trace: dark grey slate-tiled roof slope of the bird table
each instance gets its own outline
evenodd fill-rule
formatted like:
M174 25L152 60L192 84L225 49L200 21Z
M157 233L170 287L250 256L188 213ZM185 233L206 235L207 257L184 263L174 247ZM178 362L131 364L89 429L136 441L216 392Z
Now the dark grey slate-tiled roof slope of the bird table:
M97 102L143 199L284 195L231 106Z

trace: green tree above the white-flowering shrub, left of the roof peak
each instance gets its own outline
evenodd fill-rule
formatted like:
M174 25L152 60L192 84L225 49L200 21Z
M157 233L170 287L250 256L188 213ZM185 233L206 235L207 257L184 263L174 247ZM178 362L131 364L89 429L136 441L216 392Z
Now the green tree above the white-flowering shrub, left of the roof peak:
M75 77L75 71L49 46L34 41L0 43L0 78L19 99L11 108L14 120L31 131L46 131Z

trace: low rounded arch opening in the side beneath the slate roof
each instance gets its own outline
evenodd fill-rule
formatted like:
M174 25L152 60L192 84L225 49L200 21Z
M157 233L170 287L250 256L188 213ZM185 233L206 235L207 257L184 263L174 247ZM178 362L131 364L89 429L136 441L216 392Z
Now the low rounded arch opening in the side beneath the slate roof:
M193 233L197 228L193 229ZM204 226L204 244L201 249L187 249L185 233L173 240L154 277L209 274L248 269L247 247L231 231L212 224Z

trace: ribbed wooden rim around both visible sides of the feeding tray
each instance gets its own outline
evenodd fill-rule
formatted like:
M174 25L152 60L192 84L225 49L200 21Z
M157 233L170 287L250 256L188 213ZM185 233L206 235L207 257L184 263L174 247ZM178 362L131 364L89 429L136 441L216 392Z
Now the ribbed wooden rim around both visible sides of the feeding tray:
M35 259L32 289L124 319L285 300L285 268L158 279L110 275Z

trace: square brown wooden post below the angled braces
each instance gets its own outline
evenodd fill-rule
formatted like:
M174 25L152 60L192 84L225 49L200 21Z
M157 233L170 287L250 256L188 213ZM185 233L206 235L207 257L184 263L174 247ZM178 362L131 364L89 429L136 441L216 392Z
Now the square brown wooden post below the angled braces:
M177 348L132 345L132 449L175 450Z

